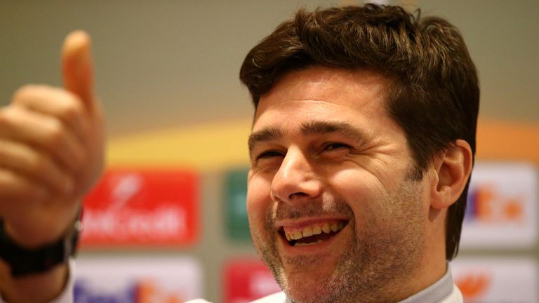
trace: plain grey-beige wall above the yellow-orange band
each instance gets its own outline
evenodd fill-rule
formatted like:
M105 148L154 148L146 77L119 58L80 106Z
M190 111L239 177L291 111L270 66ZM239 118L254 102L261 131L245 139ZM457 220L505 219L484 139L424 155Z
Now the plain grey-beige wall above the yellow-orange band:
M93 36L109 134L251 116L248 50L300 5L361 1L0 1L0 105L60 84L65 34ZM392 1L399 2L399 1ZM404 1L460 27L479 68L481 117L539 121L539 1Z

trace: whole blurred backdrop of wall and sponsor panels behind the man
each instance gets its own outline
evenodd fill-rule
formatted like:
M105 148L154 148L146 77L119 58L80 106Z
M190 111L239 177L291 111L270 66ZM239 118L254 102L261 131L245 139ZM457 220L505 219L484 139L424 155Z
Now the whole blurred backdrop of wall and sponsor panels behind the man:
M0 1L0 105L60 86L93 38L107 173L86 199L77 302L248 302L278 290L251 247L244 56L300 6L364 1ZM453 276L467 302L539 302L539 1L382 1L460 28L481 81L477 167ZM101 300L101 301L100 301Z

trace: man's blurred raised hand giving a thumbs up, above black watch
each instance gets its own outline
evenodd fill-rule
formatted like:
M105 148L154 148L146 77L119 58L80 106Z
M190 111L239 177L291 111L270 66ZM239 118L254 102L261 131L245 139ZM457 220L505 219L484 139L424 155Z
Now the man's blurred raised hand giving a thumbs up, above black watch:
M0 109L0 217L28 248L62 236L102 171L104 120L90 48L86 33L69 34L64 88L23 86Z

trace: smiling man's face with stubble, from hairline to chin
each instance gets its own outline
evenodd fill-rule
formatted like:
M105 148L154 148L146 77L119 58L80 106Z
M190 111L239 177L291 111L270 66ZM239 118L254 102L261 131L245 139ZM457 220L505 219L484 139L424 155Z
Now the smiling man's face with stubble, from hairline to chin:
M372 72L312 67L262 96L249 140L256 250L294 302L401 299L425 246L427 187Z

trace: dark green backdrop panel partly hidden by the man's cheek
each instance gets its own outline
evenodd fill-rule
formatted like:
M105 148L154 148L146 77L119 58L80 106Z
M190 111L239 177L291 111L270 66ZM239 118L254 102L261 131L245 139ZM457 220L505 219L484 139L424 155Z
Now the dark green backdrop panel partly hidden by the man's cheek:
M251 241L247 219L247 169L230 170L225 175L227 234L234 241Z

